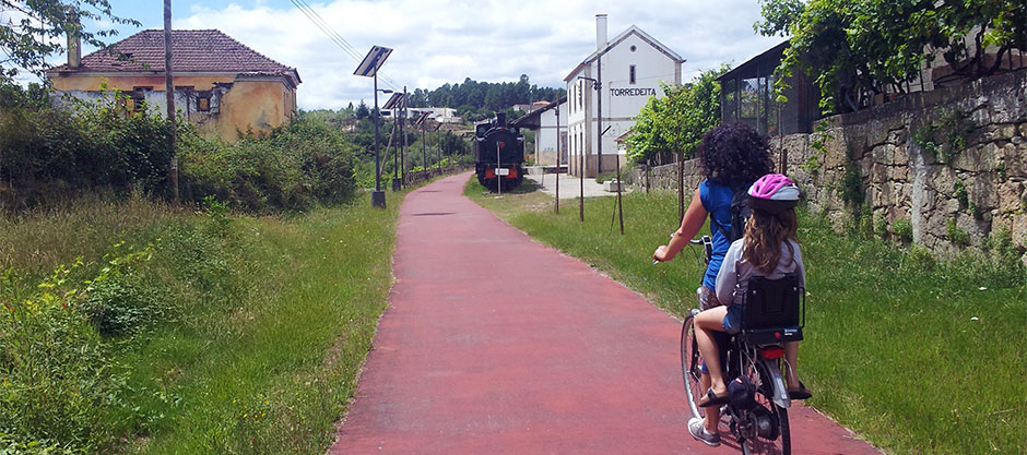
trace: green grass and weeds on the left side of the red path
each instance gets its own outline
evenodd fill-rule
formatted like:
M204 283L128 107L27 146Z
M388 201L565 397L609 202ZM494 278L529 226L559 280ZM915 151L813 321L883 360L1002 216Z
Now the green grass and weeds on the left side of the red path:
M0 219L14 271L0 283L0 452L323 453L387 306L402 195L221 219L98 199ZM36 284L75 258L46 303ZM135 325L104 333L96 314Z

